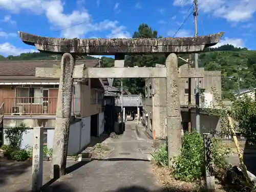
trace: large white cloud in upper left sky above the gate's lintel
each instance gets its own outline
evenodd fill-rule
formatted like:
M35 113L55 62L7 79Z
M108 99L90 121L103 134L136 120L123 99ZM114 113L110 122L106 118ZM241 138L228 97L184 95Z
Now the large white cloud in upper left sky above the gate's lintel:
M5 8L13 13L19 13L21 10L29 10L33 14L44 13L51 24L51 29L61 31L60 37L82 38L88 32L109 30L111 36L127 36L124 26L118 22L105 20L105 26L99 28L102 23L93 23L92 17L88 10L80 8L70 14L66 14L64 3L61 0L0 0L0 7ZM119 7L119 4L116 4ZM72 26L72 27L71 27ZM122 31L124 30L124 31Z

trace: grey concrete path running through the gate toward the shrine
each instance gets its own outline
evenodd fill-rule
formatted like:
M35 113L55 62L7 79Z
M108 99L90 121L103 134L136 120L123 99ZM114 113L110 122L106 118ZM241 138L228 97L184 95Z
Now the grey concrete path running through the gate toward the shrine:
M125 130L120 138L109 143L114 145L114 151L108 160L74 165L80 167L53 183L53 191L165 191L147 160L152 140L139 137L133 122L127 122Z

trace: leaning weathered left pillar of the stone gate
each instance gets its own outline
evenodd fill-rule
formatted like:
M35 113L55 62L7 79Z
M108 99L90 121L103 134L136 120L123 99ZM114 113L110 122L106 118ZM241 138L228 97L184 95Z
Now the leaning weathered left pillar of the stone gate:
M75 58L70 53L62 55L59 92L57 100L54 145L52 158L52 177L65 174L70 128L70 113L73 89L73 70Z

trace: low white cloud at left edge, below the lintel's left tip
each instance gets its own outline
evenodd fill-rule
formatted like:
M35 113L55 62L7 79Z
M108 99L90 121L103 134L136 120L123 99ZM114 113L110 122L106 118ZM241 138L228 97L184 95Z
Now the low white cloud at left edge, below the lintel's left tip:
M28 53L28 52L38 52L38 51L34 49L17 48L14 45L10 44L9 42L0 44L0 54L4 56L8 56L8 55L16 56L16 55L20 55L21 53Z

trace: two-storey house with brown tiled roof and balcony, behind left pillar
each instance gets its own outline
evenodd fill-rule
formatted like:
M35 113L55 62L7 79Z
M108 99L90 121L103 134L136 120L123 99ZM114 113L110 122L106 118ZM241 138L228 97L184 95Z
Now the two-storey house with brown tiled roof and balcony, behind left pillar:
M99 60L77 60L76 65L99 67ZM0 61L0 145L4 130L25 123L28 132L22 146L32 144L33 127L44 126L44 143L53 145L59 78L39 78L36 68L60 68L59 60ZM74 79L68 155L90 143L104 131L104 86L108 79Z

